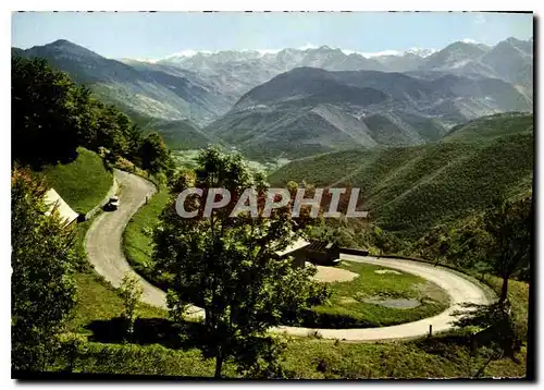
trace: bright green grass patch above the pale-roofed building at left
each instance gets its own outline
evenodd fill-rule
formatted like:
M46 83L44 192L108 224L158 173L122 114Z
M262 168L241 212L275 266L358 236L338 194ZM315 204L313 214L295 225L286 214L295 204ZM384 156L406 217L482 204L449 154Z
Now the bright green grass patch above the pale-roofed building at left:
M46 167L41 173L70 207L81 214L98 205L113 182L113 174L100 156L82 147L77 148L75 160Z

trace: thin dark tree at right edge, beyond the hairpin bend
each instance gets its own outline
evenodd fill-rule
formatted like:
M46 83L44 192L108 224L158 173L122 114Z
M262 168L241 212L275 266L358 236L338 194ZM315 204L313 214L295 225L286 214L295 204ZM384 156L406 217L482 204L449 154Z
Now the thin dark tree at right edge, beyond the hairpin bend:
M506 200L484 218L492 241L489 255L492 267L503 278L499 303L508 298L508 279L530 266L532 254L532 196Z

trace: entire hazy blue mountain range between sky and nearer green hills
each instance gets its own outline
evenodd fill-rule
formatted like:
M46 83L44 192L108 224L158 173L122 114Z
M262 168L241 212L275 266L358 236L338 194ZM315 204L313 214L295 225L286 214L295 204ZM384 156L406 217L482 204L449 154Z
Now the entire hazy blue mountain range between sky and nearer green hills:
M532 39L367 57L322 46L114 60L63 39L12 53L48 59L173 148L221 142L267 159L421 144L532 111Z

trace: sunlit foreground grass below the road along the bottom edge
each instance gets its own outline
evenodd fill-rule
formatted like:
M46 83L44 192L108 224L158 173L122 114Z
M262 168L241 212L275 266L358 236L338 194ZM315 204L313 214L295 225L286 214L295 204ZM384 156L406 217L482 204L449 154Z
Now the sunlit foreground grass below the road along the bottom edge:
M492 278L492 282L493 279L496 280ZM79 289L85 289L87 283L92 290L88 291L87 298L78 300L71 330L92 339L92 331L86 325L118 316L122 305L112 289L102 287L91 276L78 278ZM96 290L99 295L92 297ZM515 309L527 308L527 283L510 281L509 297ZM160 318L164 314L145 309L140 316ZM492 351L482 345L479 354L472 354L469 339L461 334L454 332L406 342L375 343L290 338L281 364L290 373L289 377L305 379L467 378L485 365ZM526 354L527 348L522 346L517 354L518 363L509 358L491 362L482 377L523 377ZM190 342L182 343L177 350L161 344L82 342L74 357L75 373L96 374L211 377L214 364L213 359L202 359L198 345ZM239 377L230 362L224 375Z

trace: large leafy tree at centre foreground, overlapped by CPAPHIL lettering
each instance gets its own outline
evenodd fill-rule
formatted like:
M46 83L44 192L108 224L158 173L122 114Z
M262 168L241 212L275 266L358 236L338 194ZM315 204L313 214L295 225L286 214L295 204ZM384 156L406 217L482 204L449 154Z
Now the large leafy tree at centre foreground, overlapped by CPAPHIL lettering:
M262 211L269 188L263 175L250 171L237 154L203 150L195 174L172 183L175 191L188 187L202 190L201 197L185 202L185 209L197 217L176 214L174 192L154 233L157 267L175 275L171 309L186 303L205 309L202 353L215 358L217 378L226 359L238 363L243 373L255 374L254 362L260 373L277 375L275 338L267 330L280 325L284 313L301 313L327 297L324 284L309 279L314 268L295 268L290 260L277 259L276 252L301 234L307 219L302 216L294 223L287 206L273 209L270 218L249 211L230 218L246 188L255 191ZM232 206L213 209L207 218L202 211L208 194L217 199L211 188L227 188Z

